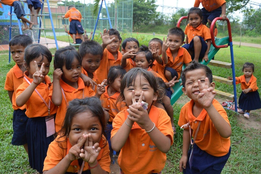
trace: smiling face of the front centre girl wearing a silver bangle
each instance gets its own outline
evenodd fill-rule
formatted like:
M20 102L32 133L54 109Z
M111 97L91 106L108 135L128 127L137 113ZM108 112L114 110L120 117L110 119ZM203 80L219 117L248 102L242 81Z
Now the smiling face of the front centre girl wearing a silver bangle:
M140 94L143 91L142 101L148 103L148 108L151 107L153 101L157 100L157 93L154 92L154 89L150 86L148 80L146 80L142 75L138 75L136 79L130 84L130 86L125 87L123 91L127 106L132 105L133 90L136 102L139 100Z

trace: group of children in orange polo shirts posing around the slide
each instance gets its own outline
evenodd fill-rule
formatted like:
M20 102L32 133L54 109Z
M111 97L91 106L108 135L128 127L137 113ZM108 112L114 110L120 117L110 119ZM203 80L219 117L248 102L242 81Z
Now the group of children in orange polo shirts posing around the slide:
M122 41L112 28L101 33L101 45L90 40L79 51L60 48L53 82L47 75L51 52L26 35L12 38L16 64L5 84L14 108L12 144L24 145L30 166L39 173L109 173L111 149L120 151L121 174L161 173L175 131L172 87L181 78L183 93L191 100L178 121L184 128L179 169L220 173L231 152L231 126L214 99L210 68L198 63L208 60L210 47L201 10L191 8L188 20L186 43L197 42L188 48L181 47L185 33L180 28L171 28L166 40L152 39L148 47L135 38ZM200 50L206 44L203 51L196 48L200 43ZM245 77L236 80L246 83L244 94L256 91L257 96L251 68L246 65ZM249 113L253 108L243 107L243 101L242 112Z

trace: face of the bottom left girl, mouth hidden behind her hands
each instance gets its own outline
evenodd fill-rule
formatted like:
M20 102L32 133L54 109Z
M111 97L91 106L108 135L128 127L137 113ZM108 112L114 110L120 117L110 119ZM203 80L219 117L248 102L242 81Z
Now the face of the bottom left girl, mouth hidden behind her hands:
M102 127L99 119L90 111L78 113L71 120L71 130L68 135L72 146L78 144L83 134L91 134L94 143L99 143L102 135Z

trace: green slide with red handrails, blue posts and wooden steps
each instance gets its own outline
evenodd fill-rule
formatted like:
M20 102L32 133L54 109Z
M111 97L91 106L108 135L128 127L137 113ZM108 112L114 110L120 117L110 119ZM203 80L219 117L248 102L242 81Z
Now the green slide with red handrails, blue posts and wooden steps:
M180 27L180 22L183 19L186 19L187 16L183 16L178 20L177 23L177 27ZM208 53L208 58L209 60L203 61L202 64L207 65L207 64L211 64L211 65L217 65L220 67L225 67L225 68L232 68L232 76L233 76L233 81L232 80L227 80L225 78L222 77L217 77L217 76L213 76L213 80L216 81L220 81L220 82L226 82L227 84L232 83L233 84L233 90L234 90L234 95L231 95L229 93L223 92L223 91L219 91L219 90L215 90L217 92L218 95L222 95L223 97L228 97L230 100L234 100L235 101L235 112L237 112L237 100L236 100L236 76L235 76L235 65L234 65L234 53L233 53L233 43L232 43L232 35L231 35L231 27L230 27L230 21L228 18L226 18L226 22L227 22L227 28L228 28L228 35L227 37L224 38L214 38L214 32L213 29L215 27L215 23L217 20L222 20L221 17L215 18L210 26L210 34L211 34L211 47ZM220 48L227 48L228 46L230 46L230 56L231 56L231 63L226 63L226 62L220 62L220 61L213 61L211 60L214 55L219 51ZM185 66L183 66L183 69L185 68ZM181 79L180 79L180 83L181 83ZM180 86L180 83L176 83L175 86L173 87L174 89L174 93L171 96L171 105L173 105L178 99L179 97L183 94L182 92L182 85Z

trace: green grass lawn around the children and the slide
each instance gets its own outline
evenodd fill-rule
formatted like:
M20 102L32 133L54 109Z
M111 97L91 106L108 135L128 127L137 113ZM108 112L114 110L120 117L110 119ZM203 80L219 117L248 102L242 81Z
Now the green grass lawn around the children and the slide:
M135 36L133 36L135 37ZM68 38L67 38L68 39ZM235 55L235 67L236 76L242 75L242 67L246 61L255 64L254 75L258 78L261 77L261 64L260 58L261 49L250 48L250 47L238 47L234 46ZM54 49L51 50L54 53ZM230 62L230 50L229 48L220 49L220 51L215 55L215 60ZM28 156L22 146L12 146L12 106L8 98L7 91L4 90L5 77L7 72L11 67L14 66L12 61L8 64L8 51L0 52L0 173L33 173L36 172L32 170L28 163ZM52 66L52 65L51 65ZM222 69L219 67L210 68L214 75L227 77L231 76L232 72L230 69ZM52 70L50 70L52 71ZM52 76L52 72L49 73ZM260 78L258 78L257 86L261 87ZM233 93L233 87L223 84L216 83L216 89L223 90L226 92ZM237 85L238 97L240 95L241 89L240 85ZM260 91L259 91L260 93ZM225 99L221 99L225 100ZM174 123L177 125L179 113L181 107L187 101L186 97L182 96L177 103L173 105L174 107ZM241 173L261 173L261 133L260 129L246 128L244 124L239 121L238 114L231 110L227 110L230 123L232 126L231 135L231 155L226 163L222 173L231 174L241 174ZM253 111L250 115L251 118L255 119L255 123L259 124L260 121L260 109ZM249 120L250 122L250 120ZM182 130L177 126L177 133L174 137L174 145L171 147L170 151L167 153L167 163L164 168L163 173L174 174L178 172L179 159L182 155Z

